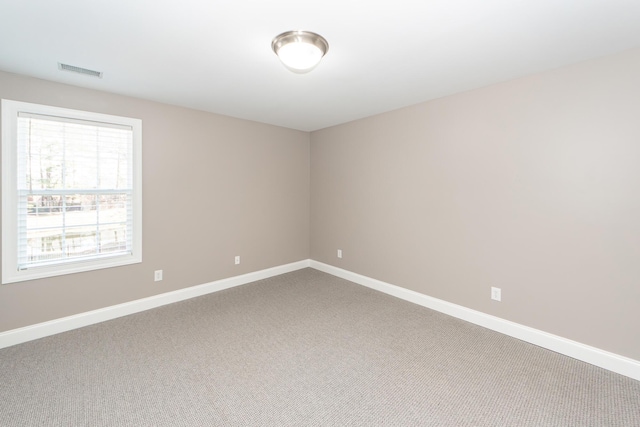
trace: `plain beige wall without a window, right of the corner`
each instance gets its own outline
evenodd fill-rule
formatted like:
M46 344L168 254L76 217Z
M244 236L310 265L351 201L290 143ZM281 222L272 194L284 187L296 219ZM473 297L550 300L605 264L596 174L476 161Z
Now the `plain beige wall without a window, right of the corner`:
M640 360L639 76L633 50L313 132L312 259Z

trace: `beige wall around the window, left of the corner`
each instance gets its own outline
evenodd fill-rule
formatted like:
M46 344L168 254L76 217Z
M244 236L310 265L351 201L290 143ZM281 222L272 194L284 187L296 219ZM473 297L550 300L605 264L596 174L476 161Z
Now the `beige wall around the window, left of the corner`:
M143 123L143 262L1 285L0 332L309 258L308 133L3 72L0 98Z

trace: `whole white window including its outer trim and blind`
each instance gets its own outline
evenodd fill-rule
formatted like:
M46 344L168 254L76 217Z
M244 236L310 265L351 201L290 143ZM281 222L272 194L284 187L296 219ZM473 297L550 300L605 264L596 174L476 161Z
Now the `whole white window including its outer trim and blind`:
M2 283L142 261L142 122L2 100Z

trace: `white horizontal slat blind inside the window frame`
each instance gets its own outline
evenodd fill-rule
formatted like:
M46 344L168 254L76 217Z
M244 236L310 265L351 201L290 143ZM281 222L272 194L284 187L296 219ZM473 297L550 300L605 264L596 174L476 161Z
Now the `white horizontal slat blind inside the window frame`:
M18 115L18 269L132 251L133 131Z

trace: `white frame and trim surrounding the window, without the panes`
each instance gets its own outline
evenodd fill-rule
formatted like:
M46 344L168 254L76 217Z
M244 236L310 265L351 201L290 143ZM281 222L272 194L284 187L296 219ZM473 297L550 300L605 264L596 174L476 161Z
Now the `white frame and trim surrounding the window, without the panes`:
M2 104L2 283L42 279L64 274L142 262L142 120L88 111L3 99ZM124 255L60 262L18 270L18 114L32 113L101 123L133 129L133 232L132 251Z

